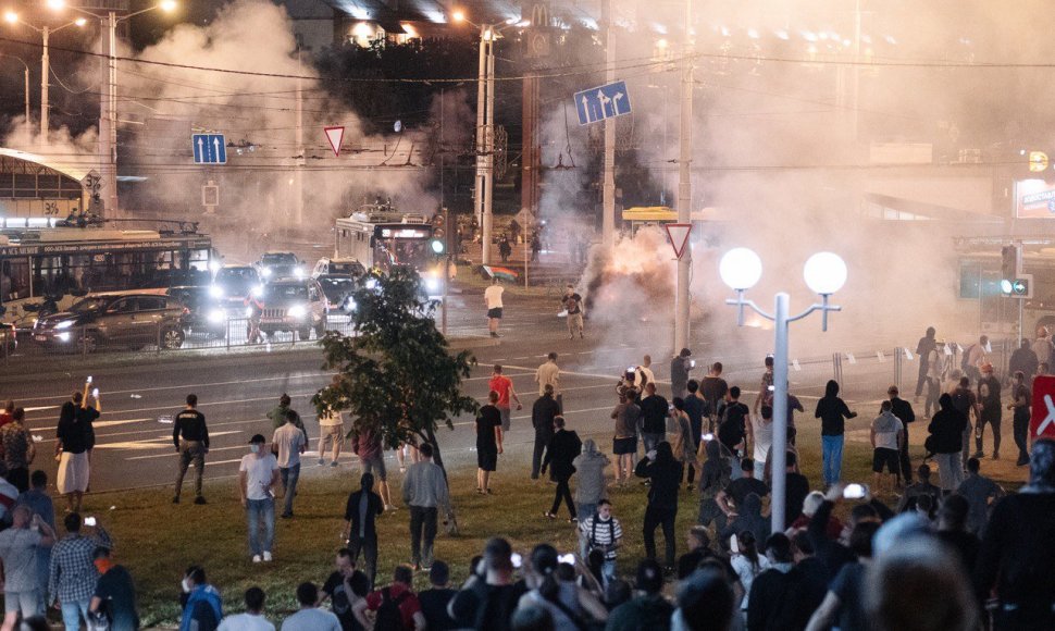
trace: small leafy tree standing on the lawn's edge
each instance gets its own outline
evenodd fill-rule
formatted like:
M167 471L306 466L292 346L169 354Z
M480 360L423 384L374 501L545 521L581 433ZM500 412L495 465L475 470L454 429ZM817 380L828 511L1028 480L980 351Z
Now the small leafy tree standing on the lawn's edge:
M439 423L454 430L451 416L476 412L476 400L461 392L475 358L468 350L450 352L433 318L436 302L423 296L421 277L411 268L371 273L352 299L353 334L330 331L320 342L324 368L338 372L311 403L320 415L350 412L349 436L369 431L389 449L408 442L432 444L433 459L447 478L436 430ZM457 532L454 509L447 518L449 531Z

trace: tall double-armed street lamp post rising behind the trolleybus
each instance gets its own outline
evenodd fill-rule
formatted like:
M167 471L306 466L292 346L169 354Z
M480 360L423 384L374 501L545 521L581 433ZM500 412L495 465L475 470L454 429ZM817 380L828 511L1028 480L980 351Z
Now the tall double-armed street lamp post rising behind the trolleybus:
M147 7L134 13L117 17L116 12L108 11L104 15L80 7L67 7L65 0L48 0L48 7L55 11L71 9L85 15L98 17L103 30L107 33L107 72L105 90L99 103L99 153L104 164L105 189L109 200L105 210L115 214L117 212L117 24L131 20L148 11L162 10L171 13L176 9L176 0L161 0L152 7ZM84 24L84 20L79 20Z

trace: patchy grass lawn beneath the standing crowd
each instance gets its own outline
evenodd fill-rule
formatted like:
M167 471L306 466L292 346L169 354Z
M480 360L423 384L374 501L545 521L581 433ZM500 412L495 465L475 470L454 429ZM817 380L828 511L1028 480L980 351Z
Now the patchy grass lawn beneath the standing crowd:
M818 433L815 428L806 428L799 434L805 472L815 486L820 479ZM610 450L608 436L593 437L603 450ZM917 459L921 457L919 449L914 448ZM526 444L507 445L492 482L495 491L492 496L475 493L474 454L447 454L446 458L451 471L451 495L460 534L455 537L440 534L436 541L436 557L451 566L455 582L464 580L469 560L480 554L491 536L508 537L525 556L539 542L550 542L561 552L575 549L575 531L566 521L567 516L549 521L542 515L549 508L554 487L529 480ZM296 608L294 593L298 583L310 580L321 584L325 580L332 571L333 554L342 546L339 535L345 503L348 493L359 487L359 471L349 467L338 470L318 468L313 467L312 460L307 462L312 466L301 474L296 518L277 520L275 561L272 564L253 565L249 560L245 517L234 479L207 483L209 504L206 506L189 502L173 505L170 503L171 488L104 493L85 498L85 514L98 515L103 520L114 536L117 561L127 566L135 577L145 627L169 626L177 620L179 580L183 570L191 564L206 568L209 581L224 595L225 610L240 609L241 594L249 586L263 587L268 593L269 615L273 619ZM175 456L171 465L175 467ZM871 449L848 442L844 451L843 479L869 482L870 465ZM399 506L402 477L390 454L389 471L394 499ZM631 574L644 556L641 524L645 492L645 487L636 483L611 490L615 514L622 521L625 533L619 559L622 574ZM681 497L677 531L679 554L685 552L684 533L694 523L698 507L695 492L682 490ZM894 502L892 497L883 499ZM409 560L408 522L409 511L401 506L378 519L377 579L381 584L388 582L393 567ZM662 554L661 531L657 532L657 539ZM425 589L426 585L426 574L419 573L415 586Z

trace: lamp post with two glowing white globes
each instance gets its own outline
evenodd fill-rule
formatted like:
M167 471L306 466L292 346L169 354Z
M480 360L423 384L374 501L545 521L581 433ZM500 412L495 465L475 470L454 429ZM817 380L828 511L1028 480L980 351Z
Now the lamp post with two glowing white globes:
M772 461L772 531L782 532L786 525L786 482L787 482L787 325L809 316L821 312L821 331L828 331L828 312L841 311L842 307L829 304L832 294L846 283L846 263L832 252L818 252L811 256L803 269L806 285L820 295L821 301L810 305L805 311L789 314L790 297L777 294L772 313L760 309L754 300L746 300L744 294L755 286L762 274L762 263L754 251L734 248L722 257L719 263L722 281L736 292L736 298L725 300L727 305L737 307L737 324L744 325L744 308L749 307L774 323L773 351L773 461Z

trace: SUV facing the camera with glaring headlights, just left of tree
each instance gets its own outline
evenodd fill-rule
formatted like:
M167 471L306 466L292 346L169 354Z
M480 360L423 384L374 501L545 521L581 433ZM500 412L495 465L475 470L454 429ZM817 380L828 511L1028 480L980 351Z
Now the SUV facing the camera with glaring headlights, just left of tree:
M260 332L271 337L280 331L296 331L308 339L326 333L330 309L326 296L314 279L283 279L268 283L249 307L250 320L257 319ZM251 327L251 325L250 325Z

